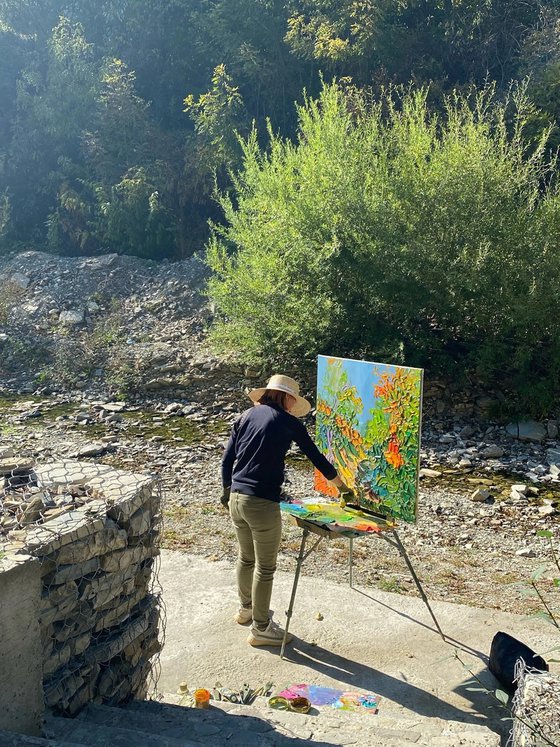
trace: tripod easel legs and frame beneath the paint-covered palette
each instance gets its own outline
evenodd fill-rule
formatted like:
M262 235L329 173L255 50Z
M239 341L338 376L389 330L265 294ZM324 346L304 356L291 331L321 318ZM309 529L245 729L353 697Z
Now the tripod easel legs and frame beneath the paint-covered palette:
M328 524L317 524L313 521L309 521L308 519L300 519L297 516L291 516L291 520L297 524L298 527L301 527L303 529L303 534L301 537L301 544L299 548L299 555L297 557L297 563L296 563L296 572L294 576L294 583L292 585L292 594L290 597L290 605L288 607L288 610L286 612L286 627L284 629L284 639L282 641L282 648L280 649L280 658L284 658L284 649L286 648L286 641L288 638L288 630L290 627L290 620L292 618L292 613L294 610L294 602L296 598L297 593L297 587L299 582L299 577L301 574L301 567L304 563L304 561L311 555L311 553L317 548L321 540L327 539L341 539L342 537L346 537L350 542L350 551L348 555L348 583L350 585L350 588L354 588L353 584L353 565L354 565L354 539L356 537L364 537L364 536L371 536L371 535L365 535L363 532L354 532L354 533L345 533L341 534L340 532L333 532L329 530ZM375 516L372 518L375 518L375 521L379 524L379 527L381 531L379 533L371 533L374 534L375 537L380 537L381 539L384 539L385 542L388 542L393 547L396 547L399 551L399 554L404 559L408 570L410 571L410 575L412 576L414 583L416 584L416 588L418 589L420 596L422 597L422 601L428 608L428 611L432 617L432 620L434 621L434 625L437 628L438 633L442 637L442 640L445 641L445 635L436 619L436 616L434 614L434 611L432 610L430 603L428 601L428 597L426 596L426 593L422 587L422 584L420 583L420 579L418 578L416 571L414 570L414 567L412 566L412 563L410 561L410 558L408 556L408 553L405 550L405 547L403 543L401 542L401 539L399 535L397 534L397 531L395 527L392 524L389 524L386 519ZM317 539L315 540L314 544L306 551L306 544L307 539L310 534L317 535Z

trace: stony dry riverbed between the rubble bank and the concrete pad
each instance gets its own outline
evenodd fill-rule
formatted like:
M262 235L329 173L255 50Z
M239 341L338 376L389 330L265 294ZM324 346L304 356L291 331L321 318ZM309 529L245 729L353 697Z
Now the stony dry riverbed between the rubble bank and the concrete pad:
M52 458L94 459L136 471L161 475L165 495L163 544L210 560L235 560L235 538L221 508L221 451L233 415L209 419L200 408L170 411L165 406L120 406L71 402L61 398L0 399L0 450L38 461ZM433 462L433 459L432 459ZM433 464L431 465L433 466ZM558 539L557 515L543 516L542 499L509 499L515 476L476 470L440 470L420 483L418 523L399 534L428 595L434 599L527 613L540 609L527 597L531 574L549 563L541 581L554 603L550 540ZM290 458L287 492L309 495L312 472L305 460ZM498 499L474 502L473 491L491 489ZM551 488L547 495L556 498ZM549 498L549 500L551 500ZM285 522L279 567L291 570L301 530ZM367 537L355 548L355 582L402 594L416 594L414 583L396 550ZM322 542L306 561L304 572L336 581L347 578L348 541Z

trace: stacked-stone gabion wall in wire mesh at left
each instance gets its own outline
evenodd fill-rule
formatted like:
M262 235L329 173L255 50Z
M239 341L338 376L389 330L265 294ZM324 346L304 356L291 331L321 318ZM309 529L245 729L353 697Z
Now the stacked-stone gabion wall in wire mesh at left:
M144 697L160 649L156 481L58 462L35 467L29 484L26 505L40 499L40 517L12 530L4 552L40 564L45 704L74 715L91 701Z

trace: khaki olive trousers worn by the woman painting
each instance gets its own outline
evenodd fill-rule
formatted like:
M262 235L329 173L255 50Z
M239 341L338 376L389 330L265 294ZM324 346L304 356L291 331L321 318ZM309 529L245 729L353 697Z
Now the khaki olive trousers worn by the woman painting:
M272 581L282 535L280 504L266 498L232 493L229 511L237 542L237 588L244 607L253 606L253 623L261 629L269 621Z

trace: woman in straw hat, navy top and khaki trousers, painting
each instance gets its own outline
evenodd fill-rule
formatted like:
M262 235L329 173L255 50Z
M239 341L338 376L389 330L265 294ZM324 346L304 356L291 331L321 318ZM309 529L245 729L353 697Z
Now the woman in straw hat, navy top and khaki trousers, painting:
M282 533L285 458L292 442L342 496L351 491L298 420L311 405L299 396L296 381L276 374L249 397L256 406L234 424L222 461L222 503L229 503L239 545L236 570L241 606L234 619L241 625L252 621L247 639L252 646L280 646L284 631L271 619L269 606Z

